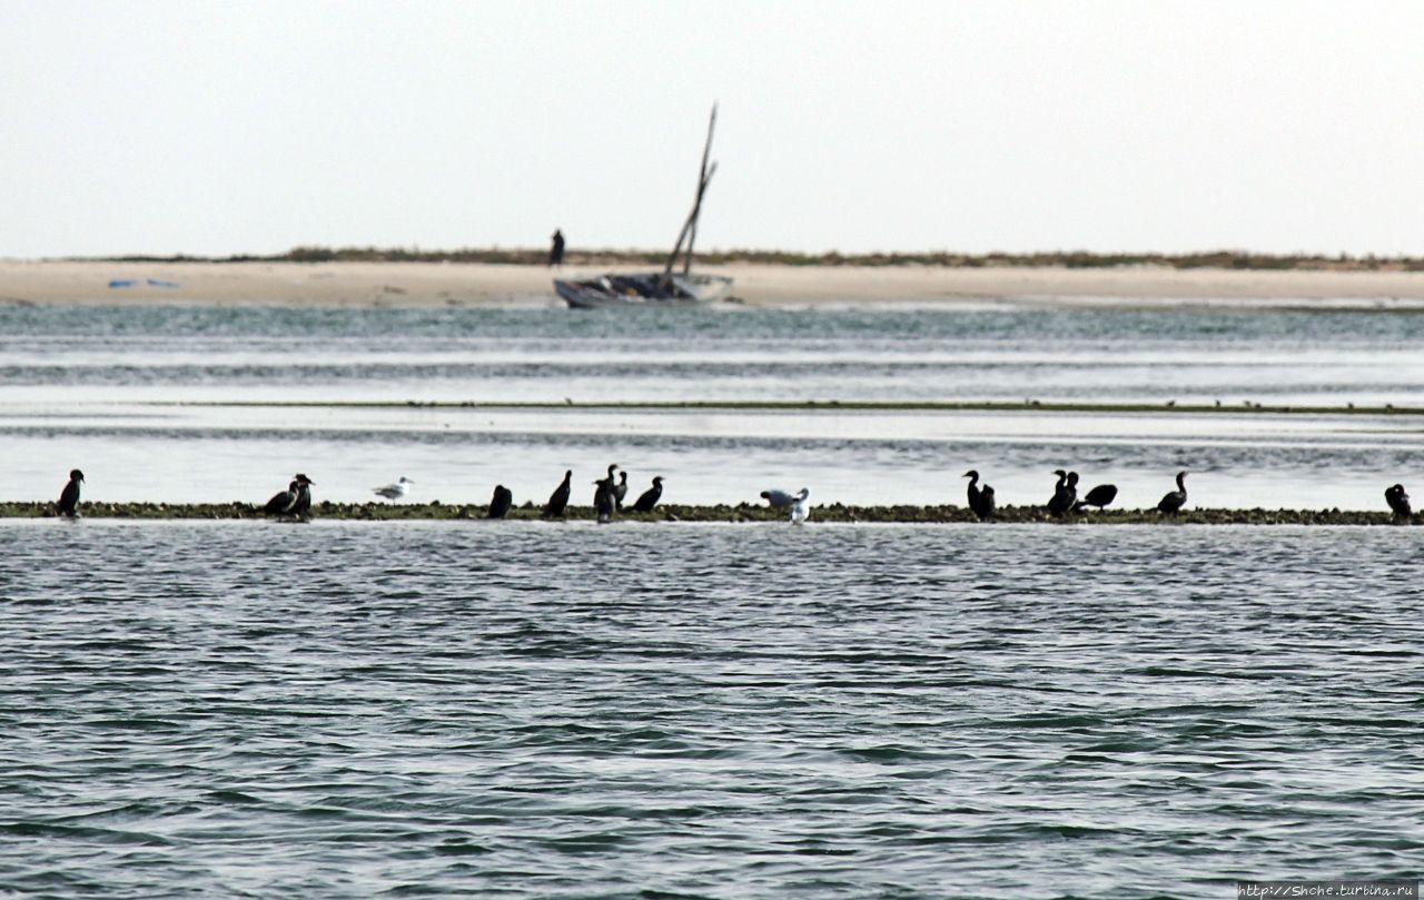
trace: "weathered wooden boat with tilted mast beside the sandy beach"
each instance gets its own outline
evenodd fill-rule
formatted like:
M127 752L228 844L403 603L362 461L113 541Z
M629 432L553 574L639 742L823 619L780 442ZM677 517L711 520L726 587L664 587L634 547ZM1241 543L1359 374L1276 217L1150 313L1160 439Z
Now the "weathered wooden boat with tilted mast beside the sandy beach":
M716 104L712 105L712 118L708 121L708 140L702 148L702 172L698 178L698 194L692 204L692 212L682 224L678 242L668 255L668 263L661 272L628 272L609 273L598 278L584 279L554 279L554 291L571 309L619 309L629 306L655 308L685 308L705 306L726 298L732 291L732 279L726 275L693 275L692 273L692 245L698 238L698 216L702 212L702 197L706 194L708 182L716 172L716 162L708 165L708 155L712 152L712 130L716 127ZM686 252L682 244L686 242ZM674 272L678 258L682 256L682 272Z

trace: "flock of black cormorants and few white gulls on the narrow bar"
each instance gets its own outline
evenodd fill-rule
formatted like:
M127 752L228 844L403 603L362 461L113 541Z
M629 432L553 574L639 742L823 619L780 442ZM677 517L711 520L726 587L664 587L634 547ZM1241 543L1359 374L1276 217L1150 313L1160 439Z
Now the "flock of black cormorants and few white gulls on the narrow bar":
M1101 513L1114 500L1118 498L1118 487L1115 484L1099 484L1078 497L1078 473L1067 471L1062 469L1055 469L1054 474L1058 476L1058 483L1054 484L1054 496L1048 498L1045 508L1051 516L1064 517L1069 513L1082 513L1088 507L1096 507ZM977 470L971 469L964 473L964 477L970 480L968 483L968 507L981 521L988 521L994 518L994 488L988 484L980 484L980 474ZM572 494L574 471L567 470L564 473L564 480L560 481L558 487L550 496L548 503L544 504L543 518L562 518L564 510L568 507L568 498ZM84 473L78 469L70 471L70 480L60 493L60 501L56 508L60 516L67 516L70 518L78 517L80 504L80 486L84 483ZM292 481L286 486L285 491L276 493L262 511L266 516L282 517L282 518L306 518L312 513L312 486L316 484L305 474L298 473ZM402 476L393 484L386 484L383 487L375 488L377 497L384 497L386 500L400 500L410 491L410 486L414 484L410 478ZM594 511L598 516L600 523L611 523L614 517L624 508L624 500L628 497L628 473L622 470L617 463L608 467L608 474L602 478L594 481ZM810 517L810 507L807 504L810 498L810 488L803 487L799 493L790 494L782 490L765 490L762 491L762 498L766 500L768 506L773 510L786 510L789 521L795 524L802 524ZM658 501L662 500L662 476L652 478L652 487L645 490L632 503L632 511L635 513L651 513ZM1410 507L1410 496L1404 491L1403 484L1391 484L1384 490L1384 501L1388 504L1394 516L1400 518L1408 518L1413 516L1414 510ZM490 510L486 518L504 518L510 508L514 506L514 494L510 488L503 484L494 486L494 496L490 498ZM1176 490L1168 491L1158 501L1158 511L1163 516L1176 516L1186 506L1186 473L1176 473Z

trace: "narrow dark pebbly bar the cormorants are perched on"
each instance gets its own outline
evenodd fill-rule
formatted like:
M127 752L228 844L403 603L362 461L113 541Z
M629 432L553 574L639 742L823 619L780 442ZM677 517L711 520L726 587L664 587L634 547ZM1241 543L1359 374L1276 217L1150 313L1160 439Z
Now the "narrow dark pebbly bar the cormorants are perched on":
M313 516L305 521L490 521L486 518L487 504L461 503L332 503L322 501L313 507ZM531 503L510 510L504 521L544 521L541 507ZM1411 527L1424 524L1424 513L1408 520L1397 520L1387 511L1366 510L1183 510L1178 516L1162 516L1152 510L1109 510L1075 513L1062 518L1049 516L1044 507L1005 506L995 511L994 521L980 523L970 510L947 506L844 506L830 503L810 507L810 523L822 524L957 524L967 523L984 527L994 524L1042 524L1054 527L1071 525L1391 525ZM47 501L17 503L0 501L0 520L60 518L54 504ZM128 520L128 521L194 521L194 520L248 520L293 523L289 518L272 518L263 514L262 506L252 503L81 503L80 520ZM592 507L570 506L558 521L594 521ZM748 503L728 506L661 506L654 513L631 513L624 510L617 521L644 524L656 523L729 523L786 524L783 510ZM295 523L300 524L300 523Z

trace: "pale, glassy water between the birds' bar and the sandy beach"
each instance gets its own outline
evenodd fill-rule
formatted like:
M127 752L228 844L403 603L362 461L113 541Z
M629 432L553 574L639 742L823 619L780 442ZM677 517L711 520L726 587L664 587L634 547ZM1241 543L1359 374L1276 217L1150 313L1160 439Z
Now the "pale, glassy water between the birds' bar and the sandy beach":
M669 501L944 503L977 469L1042 503L1054 469L1149 507L1383 508L1413 417L629 413L184 402L1082 400L1420 404L1424 315L1219 310L212 309L0 306L0 498L541 503L609 463ZM591 490L591 487L588 488ZM584 500L587 503L587 500Z

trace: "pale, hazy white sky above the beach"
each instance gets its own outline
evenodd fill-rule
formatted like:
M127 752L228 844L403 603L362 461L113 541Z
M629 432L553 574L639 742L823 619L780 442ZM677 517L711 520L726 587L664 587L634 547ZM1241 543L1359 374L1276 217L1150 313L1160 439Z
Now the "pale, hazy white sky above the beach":
M0 256L1424 255L1424 4L4 0Z

